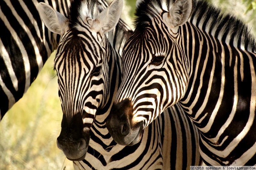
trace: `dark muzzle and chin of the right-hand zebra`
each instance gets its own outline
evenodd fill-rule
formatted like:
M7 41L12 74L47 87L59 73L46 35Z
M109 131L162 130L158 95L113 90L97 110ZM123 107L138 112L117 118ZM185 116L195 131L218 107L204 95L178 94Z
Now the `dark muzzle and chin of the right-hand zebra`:
M120 145L134 145L142 138L143 121L133 123L132 113L132 104L125 99L118 105L114 104L108 115L106 127L114 141Z

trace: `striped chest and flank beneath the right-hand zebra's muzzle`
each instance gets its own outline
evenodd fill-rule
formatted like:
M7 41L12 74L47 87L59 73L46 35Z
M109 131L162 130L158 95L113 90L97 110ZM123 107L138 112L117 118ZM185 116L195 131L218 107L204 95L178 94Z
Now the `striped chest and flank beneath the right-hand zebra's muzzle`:
M99 130L93 123L86 156L73 162L75 169L188 169L201 165L199 134L185 113L180 115L181 110L177 105L166 109L143 130L141 141L132 146L116 144L106 128ZM97 130L102 134L96 134Z

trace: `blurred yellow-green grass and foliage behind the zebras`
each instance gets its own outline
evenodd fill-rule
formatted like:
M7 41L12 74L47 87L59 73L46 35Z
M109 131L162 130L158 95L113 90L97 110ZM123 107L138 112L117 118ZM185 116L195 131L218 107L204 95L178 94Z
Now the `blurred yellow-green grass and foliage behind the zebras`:
M209 0L210 1L210 0ZM135 0L125 1L122 18L132 24ZM232 12L250 27L255 25L255 0L214 0L223 11ZM252 17L251 17L252 16ZM251 17L251 18L250 18ZM252 27L253 33L256 27ZM73 169L71 161L57 148L62 111L57 78L52 70L54 54L28 92L0 123L1 169Z

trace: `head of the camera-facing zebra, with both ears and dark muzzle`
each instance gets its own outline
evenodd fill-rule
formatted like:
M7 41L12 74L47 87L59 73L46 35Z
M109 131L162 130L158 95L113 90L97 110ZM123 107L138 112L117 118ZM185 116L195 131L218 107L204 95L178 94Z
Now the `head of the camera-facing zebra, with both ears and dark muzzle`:
M73 161L84 159L96 111L109 97L112 47L105 33L116 26L122 7L122 0L114 0L100 13L97 1L73 1L67 19L39 4L45 25L61 35L54 60L63 111L57 145Z

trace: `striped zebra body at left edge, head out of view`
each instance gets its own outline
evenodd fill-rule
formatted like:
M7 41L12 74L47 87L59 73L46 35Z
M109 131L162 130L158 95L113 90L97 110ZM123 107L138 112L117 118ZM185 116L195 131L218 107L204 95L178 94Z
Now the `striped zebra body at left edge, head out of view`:
M67 16L69 0L46 2ZM27 92L60 41L60 35L44 26L37 5L37 0L0 2L0 121Z

